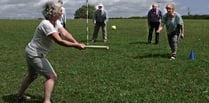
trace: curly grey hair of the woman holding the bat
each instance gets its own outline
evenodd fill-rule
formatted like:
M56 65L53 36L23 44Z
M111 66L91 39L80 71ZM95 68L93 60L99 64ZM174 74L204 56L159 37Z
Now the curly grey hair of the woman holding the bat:
M61 3L59 2L54 2L54 1L48 1L43 5L43 10L42 14L45 19L51 19L54 17L58 12L59 9L61 8Z

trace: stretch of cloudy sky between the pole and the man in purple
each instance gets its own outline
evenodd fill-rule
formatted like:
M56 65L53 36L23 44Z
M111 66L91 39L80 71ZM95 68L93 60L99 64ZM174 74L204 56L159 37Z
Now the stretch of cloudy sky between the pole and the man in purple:
M151 0L90 0L89 4L104 4L109 17L130 17L146 15L148 1Z

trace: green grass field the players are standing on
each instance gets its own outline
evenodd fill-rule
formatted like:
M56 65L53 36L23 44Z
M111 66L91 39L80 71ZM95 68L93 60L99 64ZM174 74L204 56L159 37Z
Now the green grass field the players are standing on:
M16 103L14 95L26 73L24 48L39 20L0 20L0 103ZM145 19L110 19L110 50L65 48L57 44L48 59L58 74L53 103L207 103L209 102L209 23L184 20L185 39L170 61L165 29L159 45L147 45ZM111 25L117 30L111 30ZM86 42L86 21L68 20L68 30ZM89 23L89 38L93 25ZM99 34L101 39L101 32ZM195 60L189 59L194 50ZM26 91L41 103L44 78Z

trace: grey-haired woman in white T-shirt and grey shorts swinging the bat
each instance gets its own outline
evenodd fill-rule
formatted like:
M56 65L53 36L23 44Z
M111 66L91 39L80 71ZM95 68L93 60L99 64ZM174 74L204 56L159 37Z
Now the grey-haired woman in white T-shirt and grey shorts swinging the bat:
M44 82L43 103L51 103L51 93L57 74L46 56L54 42L66 47L85 48L85 45L78 43L58 20L62 15L60 3L53 1L46 2L43 6L42 14L45 19L37 26L32 40L25 48L28 72L17 94L19 101L30 99L29 96L25 95L25 90L37 78L38 74L40 74L46 79ZM62 39L59 33L66 39Z

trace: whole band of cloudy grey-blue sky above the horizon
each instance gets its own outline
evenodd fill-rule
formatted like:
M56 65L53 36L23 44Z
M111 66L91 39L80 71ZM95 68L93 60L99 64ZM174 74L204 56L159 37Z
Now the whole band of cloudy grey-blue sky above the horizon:
M40 18L41 8L47 0L0 0L0 18ZM86 4L86 0L63 0L67 18L73 18L75 10ZM145 16L153 2L163 10L173 1L176 11L182 15L209 14L209 0L89 0L89 4L103 3L109 17Z

